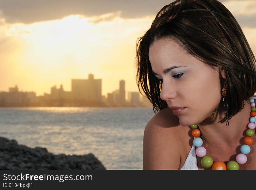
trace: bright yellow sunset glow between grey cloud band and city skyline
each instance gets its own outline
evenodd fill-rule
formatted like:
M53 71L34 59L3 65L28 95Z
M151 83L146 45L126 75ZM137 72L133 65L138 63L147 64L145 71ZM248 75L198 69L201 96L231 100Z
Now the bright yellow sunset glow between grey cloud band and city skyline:
M103 95L117 89L121 79L126 81L128 91L137 91L135 41L152 18L122 19L119 15L120 12L90 18L71 15L27 25L3 24L0 33L15 39L15 47L6 50L8 56L0 55L9 73L15 76L7 81L6 89L17 84L20 89L43 95L49 93L51 86L63 84L65 91L70 91L72 78L87 78L92 72L95 78L102 78Z

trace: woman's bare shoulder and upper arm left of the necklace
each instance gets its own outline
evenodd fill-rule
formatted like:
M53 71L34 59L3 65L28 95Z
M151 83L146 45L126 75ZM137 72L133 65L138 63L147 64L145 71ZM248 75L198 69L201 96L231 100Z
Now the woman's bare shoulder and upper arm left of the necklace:
M179 169L185 144L181 133L186 130L169 108L154 114L144 130L143 169Z

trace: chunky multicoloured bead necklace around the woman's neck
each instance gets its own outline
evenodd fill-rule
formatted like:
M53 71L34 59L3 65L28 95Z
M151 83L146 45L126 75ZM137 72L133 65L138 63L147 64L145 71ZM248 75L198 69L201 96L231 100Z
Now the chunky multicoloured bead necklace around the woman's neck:
M195 150L195 153L198 157L202 157L201 164L205 168L211 167L213 170L238 170L239 164L245 164L247 161L246 154L250 153L251 148L249 145L253 144L253 138L254 135L253 129L255 128L256 124L256 107L254 103L254 99L256 99L255 96L252 96L249 98L250 106L251 106L251 112L250 112L250 123L248 123L248 128L246 130L246 137L243 139L244 144L241 146L240 151L236 157L236 161L231 160L227 163L227 165L222 161L216 161L213 162L212 158L210 156L206 156L206 149L202 146L203 140L199 137L201 135L200 130L198 129L198 125L191 125L192 130L192 136L195 137L193 140L193 144L197 147Z

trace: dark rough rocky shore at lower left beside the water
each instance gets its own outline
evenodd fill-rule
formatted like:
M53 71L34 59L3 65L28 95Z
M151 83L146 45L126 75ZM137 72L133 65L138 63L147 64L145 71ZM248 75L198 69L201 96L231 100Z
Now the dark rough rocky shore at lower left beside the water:
M0 169L106 169L92 154L54 155L46 148L29 148L0 137Z

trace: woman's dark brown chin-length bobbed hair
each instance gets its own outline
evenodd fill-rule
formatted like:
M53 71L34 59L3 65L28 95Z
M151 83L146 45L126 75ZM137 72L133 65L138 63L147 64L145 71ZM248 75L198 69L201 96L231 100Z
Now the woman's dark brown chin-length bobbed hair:
M136 41L136 82L139 92L152 103L154 113L167 107L160 98L162 82L152 74L148 57L150 45L161 38L178 39L187 53L212 68L223 66L228 119L254 95L255 56L231 12L217 0L176 0L159 10L151 27Z

